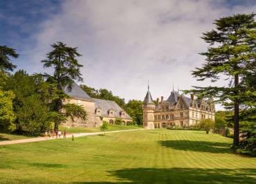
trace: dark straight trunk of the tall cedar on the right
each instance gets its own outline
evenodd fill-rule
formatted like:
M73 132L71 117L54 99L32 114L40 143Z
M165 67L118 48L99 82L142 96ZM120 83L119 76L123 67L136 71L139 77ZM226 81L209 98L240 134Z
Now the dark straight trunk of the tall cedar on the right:
M235 89L237 89L239 84L239 77L235 75ZM235 95L238 95L238 91L235 92ZM235 100L235 114L234 114L234 140L233 147L237 147L239 145L239 101Z

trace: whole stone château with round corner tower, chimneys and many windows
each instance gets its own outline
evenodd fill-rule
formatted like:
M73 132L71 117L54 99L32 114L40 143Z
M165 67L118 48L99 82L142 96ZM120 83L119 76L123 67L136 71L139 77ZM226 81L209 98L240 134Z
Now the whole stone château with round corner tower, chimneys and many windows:
M214 120L214 103L198 100L191 95L190 98L172 91L167 100L152 99L149 87L143 101L143 125L147 129L167 126L190 127L203 119Z

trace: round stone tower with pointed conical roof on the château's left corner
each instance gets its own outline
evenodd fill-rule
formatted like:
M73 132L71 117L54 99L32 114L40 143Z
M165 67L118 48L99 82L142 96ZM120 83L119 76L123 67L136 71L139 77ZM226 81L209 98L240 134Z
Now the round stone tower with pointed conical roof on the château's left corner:
M145 129L154 129L154 110L156 105L152 100L152 95L147 88L147 94L143 101L143 126Z

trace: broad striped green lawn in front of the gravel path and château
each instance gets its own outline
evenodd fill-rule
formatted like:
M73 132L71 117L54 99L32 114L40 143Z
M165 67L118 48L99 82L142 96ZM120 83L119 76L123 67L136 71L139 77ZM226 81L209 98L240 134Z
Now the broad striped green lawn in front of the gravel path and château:
M0 146L0 183L255 183L231 142L160 129Z

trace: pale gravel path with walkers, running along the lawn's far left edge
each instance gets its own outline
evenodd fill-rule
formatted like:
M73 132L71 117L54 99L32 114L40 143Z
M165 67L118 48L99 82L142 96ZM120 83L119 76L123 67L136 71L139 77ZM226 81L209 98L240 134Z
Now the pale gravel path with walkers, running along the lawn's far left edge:
M106 134L109 133L114 133L114 132L122 132L122 131L138 131L138 130L144 130L144 129L127 129L127 130L117 130L117 131L106 131ZM72 135L74 135L75 138L82 137L82 136L95 136L103 134L102 131L100 132L92 132L92 133L74 133L74 134L67 134L66 138L71 138ZM60 138L63 138L63 135L60 136ZM1 141L0 145L13 145L13 144L19 144L19 143L26 143L26 142L39 142L39 141L44 141L44 140L53 140L56 139L55 137L39 137L39 138L26 138L26 139L20 139L20 140L6 140L6 141Z

